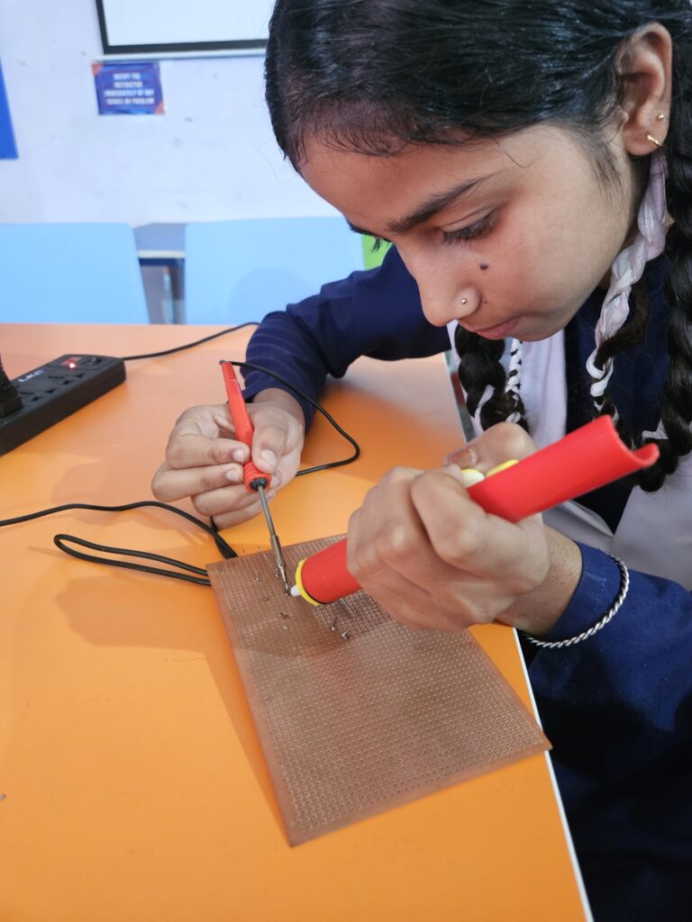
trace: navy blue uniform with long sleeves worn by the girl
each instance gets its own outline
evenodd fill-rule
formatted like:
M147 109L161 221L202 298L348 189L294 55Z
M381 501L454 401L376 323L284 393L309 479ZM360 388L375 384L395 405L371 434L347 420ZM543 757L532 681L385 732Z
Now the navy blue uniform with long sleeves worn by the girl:
M655 430L659 420L668 362L665 268L664 257L648 267L649 329L617 357L609 386L632 431ZM565 331L568 431L591 419L585 364L603 293L595 291ZM341 377L359 356L393 361L448 348L447 329L425 319L416 283L392 249L380 269L355 272L268 314L247 359L317 398L327 375ZM246 385L246 396L277 386L257 372L248 372ZM309 424L312 408L303 407ZM627 494L614 484L579 502L614 529ZM617 595L614 562L579 547L577 591L547 639L587 630ZM614 621L588 641L527 657L529 674L594 917L676 922L692 919L692 596L671 581L630 575ZM537 886L540 875L537 868Z

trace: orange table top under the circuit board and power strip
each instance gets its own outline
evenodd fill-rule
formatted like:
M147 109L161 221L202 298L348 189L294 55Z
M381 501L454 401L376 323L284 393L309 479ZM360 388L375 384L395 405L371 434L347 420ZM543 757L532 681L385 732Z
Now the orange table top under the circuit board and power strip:
M128 355L209 332L0 325L0 354L16 377L66 352ZM129 362L125 384L0 457L0 518L150 499L174 420L222 402L218 360L243 358L247 337ZM359 360L325 403L363 456L280 491L283 544L344 531L389 467L433 467L461 441L439 358ZM348 453L318 419L304 459ZM589 917L543 755L291 848L212 591L66 557L57 532L200 566L219 558L158 510L0 529L3 920ZM267 547L260 520L224 537ZM514 632L474 634L529 704Z

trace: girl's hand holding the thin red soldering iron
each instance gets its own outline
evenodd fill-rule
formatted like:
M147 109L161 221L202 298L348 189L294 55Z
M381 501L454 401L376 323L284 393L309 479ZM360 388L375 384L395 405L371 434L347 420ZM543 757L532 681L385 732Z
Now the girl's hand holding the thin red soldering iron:
M304 442L300 404L285 391L262 391L247 405L255 427L252 459L271 475L268 499L298 470ZM239 525L261 513L256 492L245 489L247 446L234 438L228 405L191 407L175 423L166 459L151 481L161 502L189 496L200 515L212 516L219 528Z

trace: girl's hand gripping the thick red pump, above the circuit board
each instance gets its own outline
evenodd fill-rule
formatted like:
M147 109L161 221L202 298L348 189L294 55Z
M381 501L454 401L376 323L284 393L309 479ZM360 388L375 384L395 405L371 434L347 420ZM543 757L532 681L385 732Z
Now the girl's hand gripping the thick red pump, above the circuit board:
M501 423L466 446L461 463L484 473L535 450L519 426ZM546 603L554 609L548 621L555 622L579 580L579 549L562 536L554 539L540 515L514 525L486 514L463 481L455 464L423 473L389 471L352 514L349 571L396 621L413 628L460 631L502 616L523 630L548 630ZM574 549L567 552L569 573L556 581L561 596L551 600L544 584L554 545L562 565L566 543ZM535 622L526 618L533 596L543 604Z

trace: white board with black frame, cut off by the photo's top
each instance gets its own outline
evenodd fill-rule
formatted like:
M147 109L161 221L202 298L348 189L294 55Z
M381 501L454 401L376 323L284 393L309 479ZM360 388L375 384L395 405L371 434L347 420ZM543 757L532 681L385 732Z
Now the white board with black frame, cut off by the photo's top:
M96 0L104 53L264 47L274 0Z

